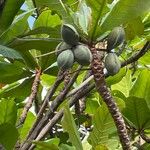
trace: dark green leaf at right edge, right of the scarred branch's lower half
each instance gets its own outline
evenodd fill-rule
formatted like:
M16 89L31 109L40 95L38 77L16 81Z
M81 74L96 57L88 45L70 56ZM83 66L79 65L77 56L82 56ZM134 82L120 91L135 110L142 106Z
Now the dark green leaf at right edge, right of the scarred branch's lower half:
M146 101L138 97L128 97L123 115L137 130L150 129L150 110Z

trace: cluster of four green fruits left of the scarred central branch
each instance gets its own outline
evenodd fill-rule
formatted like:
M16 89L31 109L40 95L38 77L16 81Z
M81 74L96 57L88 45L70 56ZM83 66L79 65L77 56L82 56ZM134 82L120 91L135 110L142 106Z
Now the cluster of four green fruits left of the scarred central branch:
M59 68L67 70L75 61L83 66L91 63L91 51L86 45L79 43L79 34L72 25L64 24L61 28L61 36L63 42L56 47Z

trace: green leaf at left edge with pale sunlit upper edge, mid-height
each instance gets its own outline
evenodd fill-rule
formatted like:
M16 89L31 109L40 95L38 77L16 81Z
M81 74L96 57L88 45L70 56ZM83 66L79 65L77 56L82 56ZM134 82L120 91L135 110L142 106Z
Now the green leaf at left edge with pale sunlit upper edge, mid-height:
M13 97L17 103L22 102L31 93L33 78L27 78L22 83L12 83L0 90L0 98Z

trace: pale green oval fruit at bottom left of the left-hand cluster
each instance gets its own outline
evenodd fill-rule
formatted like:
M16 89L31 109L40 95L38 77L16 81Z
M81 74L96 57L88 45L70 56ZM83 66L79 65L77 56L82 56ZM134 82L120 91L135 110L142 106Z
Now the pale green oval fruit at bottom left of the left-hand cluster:
M73 66L74 63L74 55L71 50L65 50L61 52L57 57L58 67L67 70Z

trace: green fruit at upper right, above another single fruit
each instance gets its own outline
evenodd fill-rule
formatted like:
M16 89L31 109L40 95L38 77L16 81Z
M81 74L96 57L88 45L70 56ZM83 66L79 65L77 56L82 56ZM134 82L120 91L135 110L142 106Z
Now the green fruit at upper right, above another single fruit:
M110 51L113 48L119 46L125 40L125 31L122 27L115 27L107 39L107 50Z

